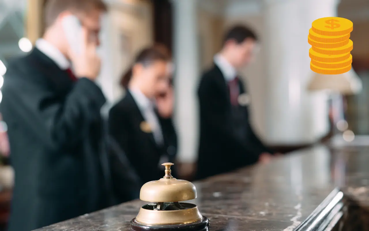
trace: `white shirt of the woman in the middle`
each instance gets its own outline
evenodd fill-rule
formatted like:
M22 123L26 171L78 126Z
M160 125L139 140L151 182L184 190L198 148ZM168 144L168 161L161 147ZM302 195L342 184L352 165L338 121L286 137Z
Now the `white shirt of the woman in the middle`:
M158 116L155 113L155 104L148 99L139 89L130 89L131 95L138 105L142 116L150 125L155 142L158 145L163 144L163 132L159 123Z

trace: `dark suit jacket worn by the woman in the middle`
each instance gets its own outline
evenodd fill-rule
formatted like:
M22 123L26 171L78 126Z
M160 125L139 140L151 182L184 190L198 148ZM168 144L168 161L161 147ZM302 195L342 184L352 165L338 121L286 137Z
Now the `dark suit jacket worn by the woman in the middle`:
M158 119L162 127L163 146L156 144L152 133L141 130L140 124L145 119L129 91L121 101L110 109L109 129L111 136L125 151L142 183L159 180L164 176L164 170L158 167L162 155L168 156L170 162L175 160L177 137L172 120L159 116ZM175 176L175 172L172 171L172 173Z

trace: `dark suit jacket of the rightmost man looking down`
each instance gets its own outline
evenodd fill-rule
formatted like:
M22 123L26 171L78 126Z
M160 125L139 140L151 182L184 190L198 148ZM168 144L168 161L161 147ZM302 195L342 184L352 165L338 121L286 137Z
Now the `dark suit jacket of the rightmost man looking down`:
M240 95L245 93L241 81L239 93ZM227 83L216 65L201 77L198 96L200 102L198 179L256 163L259 154L270 151L251 128L248 106L231 105ZM243 136L239 135L239 130Z

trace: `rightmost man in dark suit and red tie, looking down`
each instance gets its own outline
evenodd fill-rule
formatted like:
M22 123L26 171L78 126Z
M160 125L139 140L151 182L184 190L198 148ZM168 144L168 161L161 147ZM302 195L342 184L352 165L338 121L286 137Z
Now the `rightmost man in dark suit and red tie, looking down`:
M255 45L251 30L233 27L214 66L201 77L198 179L269 159L271 151L249 123L250 96L237 73L251 60Z

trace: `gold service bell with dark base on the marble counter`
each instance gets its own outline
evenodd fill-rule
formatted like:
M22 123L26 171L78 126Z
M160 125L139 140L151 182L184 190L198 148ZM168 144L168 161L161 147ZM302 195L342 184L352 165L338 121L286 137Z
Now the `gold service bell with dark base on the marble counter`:
M173 163L162 165L165 176L141 187L139 198L150 204L141 206L131 221L131 230L208 230L209 220L197 206L180 202L195 199L196 187L190 181L173 178L170 170Z

